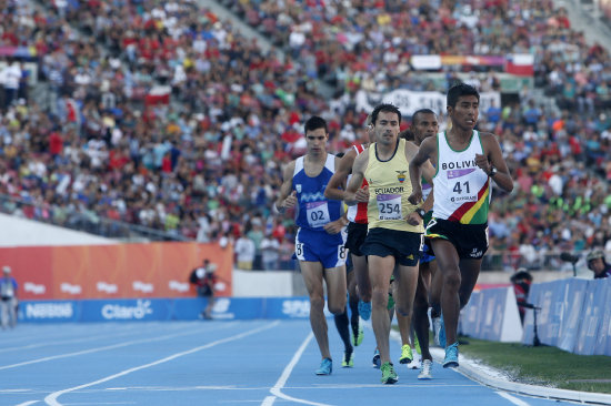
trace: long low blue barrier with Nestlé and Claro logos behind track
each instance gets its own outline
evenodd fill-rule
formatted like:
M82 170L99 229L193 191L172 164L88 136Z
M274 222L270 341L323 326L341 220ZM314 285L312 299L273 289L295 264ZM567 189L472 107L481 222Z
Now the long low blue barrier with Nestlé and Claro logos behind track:
M204 298L139 298L84 301L23 301L19 321L26 323L197 319ZM329 313L327 313L329 316ZM219 297L217 319L309 318L308 297Z

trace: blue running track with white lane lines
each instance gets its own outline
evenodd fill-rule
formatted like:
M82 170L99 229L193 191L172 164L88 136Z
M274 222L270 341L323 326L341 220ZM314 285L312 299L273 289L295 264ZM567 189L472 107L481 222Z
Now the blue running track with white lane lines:
M501 393L434 364L433 379L400 365L380 384L365 328L353 368L329 321L333 373L307 321L22 324L0 332L0 405L558 405Z

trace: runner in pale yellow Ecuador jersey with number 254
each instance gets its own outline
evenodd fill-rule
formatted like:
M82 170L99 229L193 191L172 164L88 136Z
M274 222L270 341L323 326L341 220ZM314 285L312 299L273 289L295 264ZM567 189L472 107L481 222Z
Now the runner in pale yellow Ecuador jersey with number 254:
M368 203L368 234L361 252L368 256L372 286L371 323L380 351L382 383L394 384L398 376L390 362L388 292L394 273L397 309L409 315L418 283L418 260L424 231L422 219L415 214L418 209L422 209L421 202L411 204L408 201L411 193L408 166L418 148L399 140L401 112L394 105L378 105L371 113L371 122L377 142L354 160L344 202L348 205ZM424 172L430 180L434 170L429 164ZM361 187L363 179L368 186ZM428 211L429 207L423 209Z

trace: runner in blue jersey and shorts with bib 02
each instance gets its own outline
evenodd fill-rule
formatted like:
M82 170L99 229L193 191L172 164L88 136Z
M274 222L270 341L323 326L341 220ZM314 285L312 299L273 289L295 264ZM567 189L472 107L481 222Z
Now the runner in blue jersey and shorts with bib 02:
M310 325L322 356L317 375L332 372L324 291L327 283L329 312L340 315L345 307L345 229L342 204L324 197L324 189L339 159L327 153L327 122L310 118L304 125L307 153L291 161L283 171L283 182L276 209L296 207L296 256L310 296Z

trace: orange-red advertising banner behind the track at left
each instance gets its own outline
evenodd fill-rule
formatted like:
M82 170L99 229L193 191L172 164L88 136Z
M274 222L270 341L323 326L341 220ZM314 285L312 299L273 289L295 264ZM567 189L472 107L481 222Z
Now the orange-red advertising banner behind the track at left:
M233 250L218 244L149 243L0 248L20 300L194 297L189 275L217 264L218 296L231 296Z

